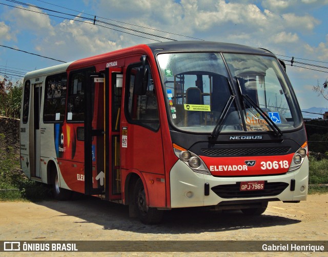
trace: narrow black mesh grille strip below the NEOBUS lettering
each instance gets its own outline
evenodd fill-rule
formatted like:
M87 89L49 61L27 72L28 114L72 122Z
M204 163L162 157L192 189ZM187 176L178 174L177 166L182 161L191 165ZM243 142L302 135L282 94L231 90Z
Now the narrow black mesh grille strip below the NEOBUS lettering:
M259 148L227 148L227 149L201 149L203 153L210 156L228 155L276 155L286 154L290 147L259 147Z

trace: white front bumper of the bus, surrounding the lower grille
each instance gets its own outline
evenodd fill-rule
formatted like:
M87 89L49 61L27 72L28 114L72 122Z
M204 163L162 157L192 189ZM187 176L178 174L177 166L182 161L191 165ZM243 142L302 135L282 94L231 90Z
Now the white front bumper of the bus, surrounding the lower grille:
M306 200L309 160L299 169L279 174L248 177L215 177L196 173L178 160L170 172L171 208L216 206L224 202ZM240 182L264 181L264 190L241 192ZM209 189L209 190L208 190Z

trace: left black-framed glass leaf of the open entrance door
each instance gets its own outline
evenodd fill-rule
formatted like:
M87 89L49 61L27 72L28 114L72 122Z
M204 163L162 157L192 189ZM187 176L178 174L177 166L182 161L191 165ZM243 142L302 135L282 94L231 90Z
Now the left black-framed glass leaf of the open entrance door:
M85 88L85 194L105 194L104 74L89 73Z

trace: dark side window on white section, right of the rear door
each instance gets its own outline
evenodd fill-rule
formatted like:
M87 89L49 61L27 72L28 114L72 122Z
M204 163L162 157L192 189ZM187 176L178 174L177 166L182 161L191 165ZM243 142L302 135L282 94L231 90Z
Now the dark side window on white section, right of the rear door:
M46 79L44 122L63 122L67 89L67 74L61 73Z

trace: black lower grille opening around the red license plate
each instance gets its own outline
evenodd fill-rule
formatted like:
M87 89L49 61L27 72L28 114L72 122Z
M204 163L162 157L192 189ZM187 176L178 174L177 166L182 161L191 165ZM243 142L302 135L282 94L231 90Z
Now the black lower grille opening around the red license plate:
M288 187L288 183L284 182L264 182L263 190L255 191L240 191L240 182L233 185L219 185L212 187L212 191L219 197L229 198L247 198L247 197L261 197L261 196L273 196L280 194Z

